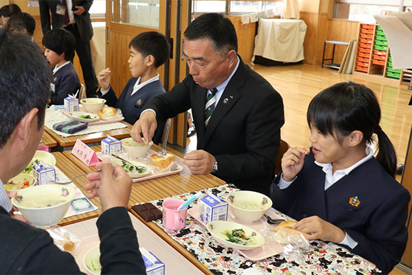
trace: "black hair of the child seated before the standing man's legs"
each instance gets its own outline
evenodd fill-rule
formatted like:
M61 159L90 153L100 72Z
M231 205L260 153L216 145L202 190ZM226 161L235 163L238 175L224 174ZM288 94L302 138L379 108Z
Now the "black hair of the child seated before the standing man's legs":
M76 40L68 30L49 30L43 36L43 45L57 54L65 53L65 61L71 61L74 58Z

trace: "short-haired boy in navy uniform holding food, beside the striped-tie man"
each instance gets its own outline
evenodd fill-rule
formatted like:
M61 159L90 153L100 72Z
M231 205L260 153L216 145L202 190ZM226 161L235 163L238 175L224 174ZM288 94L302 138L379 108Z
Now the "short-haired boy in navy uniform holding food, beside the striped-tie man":
M130 41L129 49L128 63L133 77L128 80L119 99L110 85L110 68L98 74L98 81L100 98L104 98L109 106L121 109L124 120L134 124L144 104L165 92L156 70L168 60L170 45L159 32L143 32ZM159 131L153 137L155 144L161 140L164 124L157 128Z

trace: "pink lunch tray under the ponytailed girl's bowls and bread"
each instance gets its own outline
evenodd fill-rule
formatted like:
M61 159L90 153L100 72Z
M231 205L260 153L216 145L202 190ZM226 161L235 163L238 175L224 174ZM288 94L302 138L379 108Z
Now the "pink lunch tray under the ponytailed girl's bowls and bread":
M205 223L201 221L200 208L201 208L200 206L192 207L189 210L187 210L187 214L190 214L190 216L192 216L193 219L195 219L198 223L206 227ZM276 214L273 208L269 209L266 212L266 214L273 219L283 219L284 218ZM246 259L249 259L251 261L260 261L260 260L269 258L273 255L277 255L283 252L284 250L283 245L280 245L279 243L277 243L277 241L275 241L275 239L273 238L275 234L274 228L276 225L268 224L265 217L262 217L260 218L260 220L254 221L253 223L250 223L247 221L242 221L240 219L232 219L229 214L227 217L227 221L233 221L235 223L246 225L249 228L252 228L260 232L260 234L264 236L265 243L260 248L255 248L254 250L237 250L239 254L244 256Z

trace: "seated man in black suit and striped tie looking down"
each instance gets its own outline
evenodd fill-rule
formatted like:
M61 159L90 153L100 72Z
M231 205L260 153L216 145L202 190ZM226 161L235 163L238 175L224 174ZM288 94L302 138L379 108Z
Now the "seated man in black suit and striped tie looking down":
M182 83L144 106L131 135L149 142L157 121L192 108L198 150L184 163L194 174L214 173L238 188L268 194L284 124L281 96L237 54L231 21L203 14L185 30L190 69Z

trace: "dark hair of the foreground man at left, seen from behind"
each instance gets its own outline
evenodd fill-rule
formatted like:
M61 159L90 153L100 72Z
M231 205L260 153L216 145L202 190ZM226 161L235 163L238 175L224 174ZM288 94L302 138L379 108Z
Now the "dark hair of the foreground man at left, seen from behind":
M38 109L38 129L44 123L52 72L43 53L24 34L0 30L0 148L21 119Z

